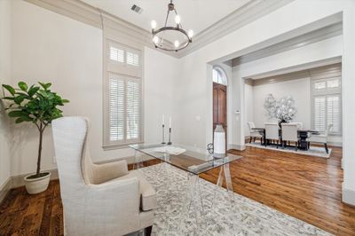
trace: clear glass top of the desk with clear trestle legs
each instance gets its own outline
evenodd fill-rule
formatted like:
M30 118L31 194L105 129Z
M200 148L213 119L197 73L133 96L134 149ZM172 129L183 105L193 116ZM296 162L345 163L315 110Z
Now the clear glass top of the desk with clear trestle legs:
M194 175L201 174L209 169L221 167L232 161L236 161L241 156L226 153L222 157L214 157L213 154L198 153L192 148L185 146L167 145L131 145L130 148L139 153L154 157L155 159L168 162L179 169L184 169Z

